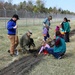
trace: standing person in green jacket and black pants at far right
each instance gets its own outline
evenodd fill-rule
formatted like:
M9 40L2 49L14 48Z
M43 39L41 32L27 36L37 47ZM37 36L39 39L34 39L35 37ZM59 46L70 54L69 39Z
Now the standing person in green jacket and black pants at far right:
M70 42L70 39L69 39L70 24L69 24L68 19L66 17L64 18L64 22L63 22L63 30L65 32L65 35L64 35L65 42Z

